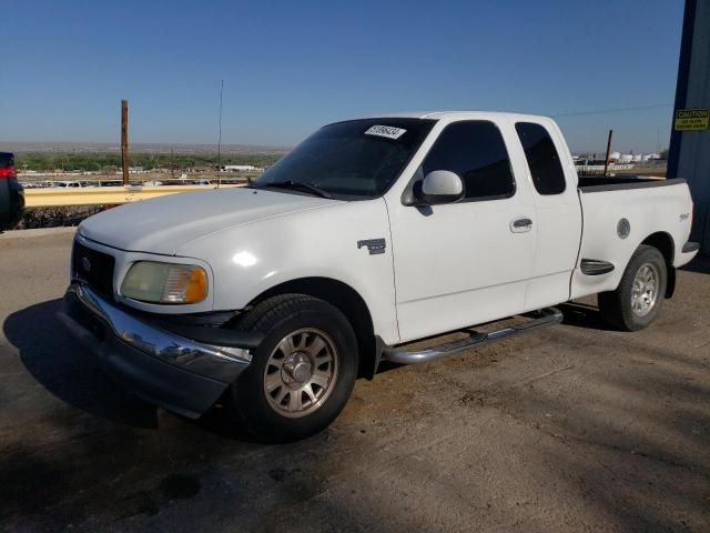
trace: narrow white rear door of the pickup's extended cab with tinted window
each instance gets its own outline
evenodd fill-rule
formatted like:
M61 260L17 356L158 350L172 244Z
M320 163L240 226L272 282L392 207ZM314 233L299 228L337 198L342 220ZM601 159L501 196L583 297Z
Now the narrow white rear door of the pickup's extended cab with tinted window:
M525 310L569 300L569 281L577 264L581 208L577 174L559 129L551 120L515 121L527 162L536 207L537 245Z

